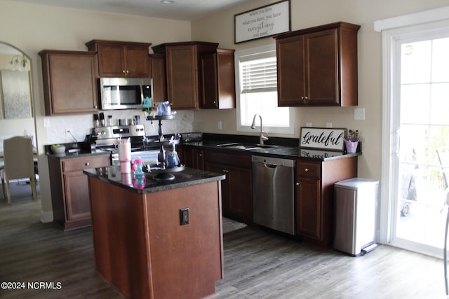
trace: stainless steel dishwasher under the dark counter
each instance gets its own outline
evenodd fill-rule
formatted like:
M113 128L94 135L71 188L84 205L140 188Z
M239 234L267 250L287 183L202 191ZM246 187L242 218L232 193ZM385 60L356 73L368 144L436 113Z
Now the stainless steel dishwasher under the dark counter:
M254 223L295 235L295 160L252 156Z

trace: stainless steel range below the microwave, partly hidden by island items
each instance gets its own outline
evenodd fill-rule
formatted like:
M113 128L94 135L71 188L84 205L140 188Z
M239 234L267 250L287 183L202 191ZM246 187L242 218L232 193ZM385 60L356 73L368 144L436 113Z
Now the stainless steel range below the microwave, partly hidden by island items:
M110 127L95 127L91 134L91 143L103 151L111 152L112 165L120 165L119 151L116 148L119 138L130 138L131 159L142 158L147 165L158 163L159 148L147 146L144 125L117 125Z

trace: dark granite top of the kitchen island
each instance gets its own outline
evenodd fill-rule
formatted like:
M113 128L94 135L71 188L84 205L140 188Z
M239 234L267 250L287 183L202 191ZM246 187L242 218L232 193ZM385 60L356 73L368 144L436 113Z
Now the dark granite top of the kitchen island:
M156 180L157 173L146 173L145 180L139 181L134 179L132 173L121 174L119 166L84 169L83 173L140 194L221 181L226 178L225 174L216 174L189 167L185 167L182 172L173 172L172 174L175 176L173 181ZM142 181L144 182L142 183Z

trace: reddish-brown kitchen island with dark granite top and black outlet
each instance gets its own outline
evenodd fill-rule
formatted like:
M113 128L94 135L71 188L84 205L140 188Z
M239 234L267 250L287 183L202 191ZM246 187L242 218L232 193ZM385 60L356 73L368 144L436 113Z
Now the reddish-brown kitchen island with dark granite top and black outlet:
M145 183L110 166L88 175L95 265L126 298L203 298L223 277L221 183L186 168Z

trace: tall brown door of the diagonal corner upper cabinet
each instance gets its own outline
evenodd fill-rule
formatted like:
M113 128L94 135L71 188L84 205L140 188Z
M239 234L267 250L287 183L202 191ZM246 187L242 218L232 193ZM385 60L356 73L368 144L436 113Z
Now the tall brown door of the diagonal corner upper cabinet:
M173 109L198 108L197 62L194 46L166 48L167 93Z

